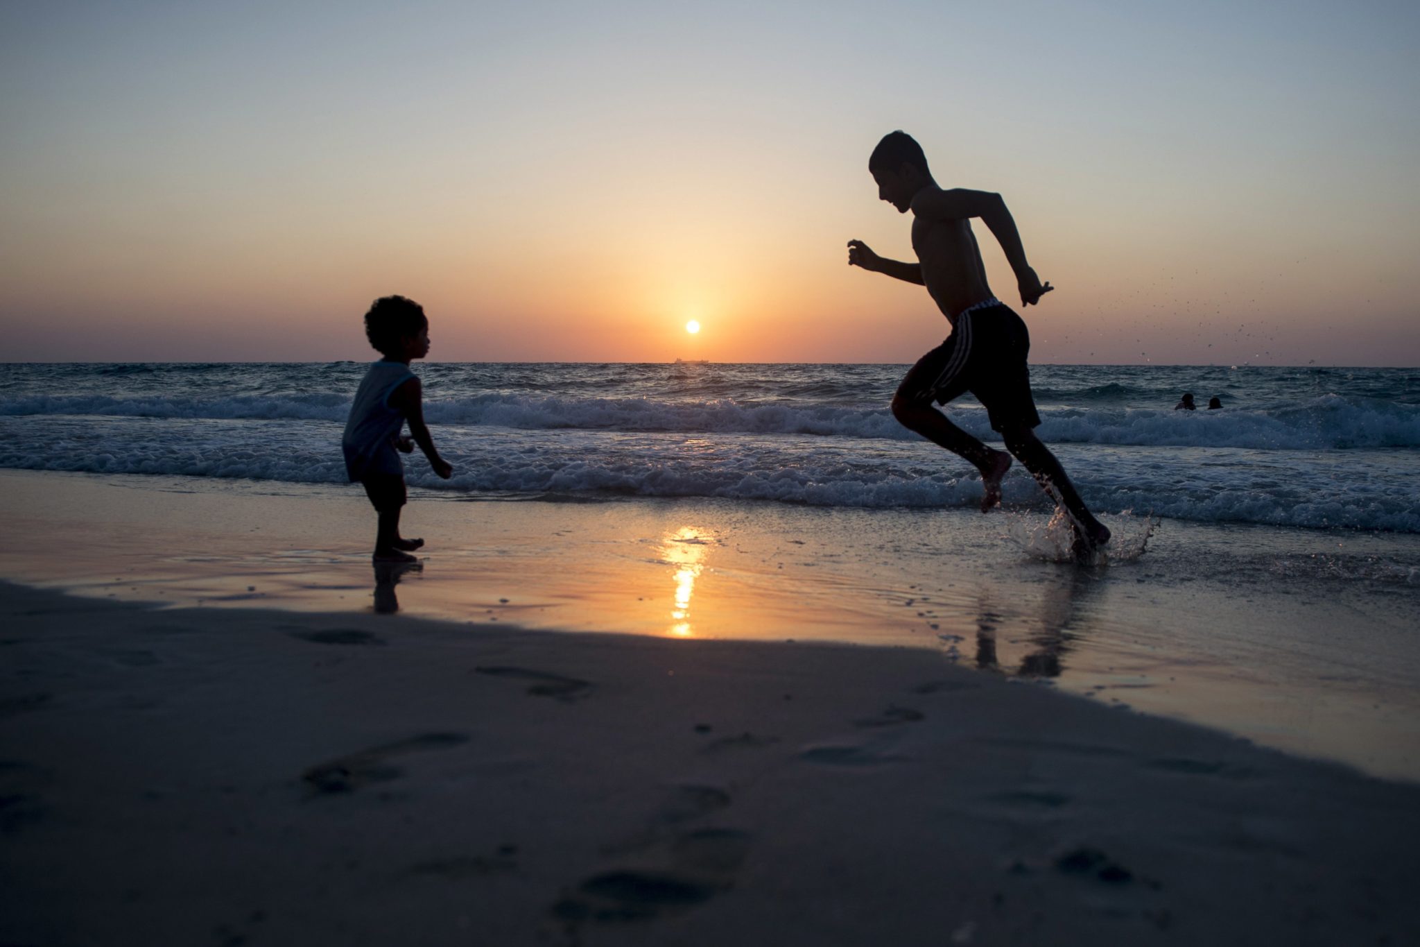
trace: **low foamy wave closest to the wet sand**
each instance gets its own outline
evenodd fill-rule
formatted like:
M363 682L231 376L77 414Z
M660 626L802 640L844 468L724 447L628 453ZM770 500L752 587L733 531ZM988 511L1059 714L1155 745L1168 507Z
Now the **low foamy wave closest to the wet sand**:
M483 439L444 443L454 464L452 480L439 480L417 456L406 461L412 486L457 494L521 494L581 497L707 497L758 500L816 507L971 508L981 483L963 461L899 449L893 457L818 456L798 451L684 451L667 444L656 450L616 451L608 446L545 444L510 449ZM903 453L913 454L909 463ZM1099 513L1150 511L1203 522L1252 522L1282 527L1384 530L1420 532L1420 498L1404 471L1384 478L1356 478L1346 470L1312 466L1287 478L1267 470L1231 464L1170 466L1129 460L1118 453L1078 464L1066 457L1076 487ZM285 483L346 481L334 449L295 442L263 447L246 443L187 443L131 439L122 446L65 440L45 456L33 446L0 447L0 467L89 471L102 474L169 474ZM1035 481L1018 466L1007 476L1008 505L1048 508Z

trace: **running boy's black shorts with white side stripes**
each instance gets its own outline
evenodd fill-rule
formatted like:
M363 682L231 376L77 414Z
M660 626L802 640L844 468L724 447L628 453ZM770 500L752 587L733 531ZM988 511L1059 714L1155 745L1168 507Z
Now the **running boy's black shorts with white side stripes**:
M914 405L946 405L966 392L976 395L991 430L1038 427L1025 358L1031 334L1007 305L964 312L947 341L912 366L897 396Z

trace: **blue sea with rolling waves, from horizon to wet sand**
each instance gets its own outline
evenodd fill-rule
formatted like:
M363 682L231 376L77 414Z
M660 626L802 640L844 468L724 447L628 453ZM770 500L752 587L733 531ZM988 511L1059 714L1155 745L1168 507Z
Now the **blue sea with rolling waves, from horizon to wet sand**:
M0 365L0 467L344 483L339 439L366 365ZM980 478L903 429L905 365L416 363L469 497L697 497L970 508ZM1420 532L1420 369L1035 365L1052 446L1102 514ZM1174 410L1191 392L1198 410ZM1204 405L1218 398L1223 407ZM949 416L997 436L970 396ZM1007 505L1045 508L1014 467Z

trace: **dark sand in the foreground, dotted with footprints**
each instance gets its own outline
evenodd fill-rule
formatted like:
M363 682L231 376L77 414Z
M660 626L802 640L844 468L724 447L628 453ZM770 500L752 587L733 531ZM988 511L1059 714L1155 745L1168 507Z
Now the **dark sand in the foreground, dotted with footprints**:
M3 944L1420 938L1420 788L940 652L0 619Z

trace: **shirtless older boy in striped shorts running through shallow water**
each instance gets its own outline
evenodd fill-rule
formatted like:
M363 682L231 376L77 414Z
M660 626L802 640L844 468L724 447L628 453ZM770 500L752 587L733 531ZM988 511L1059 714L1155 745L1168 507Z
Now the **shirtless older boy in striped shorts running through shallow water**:
M862 240L849 240L848 263L927 287L951 322L947 341L923 355L897 386L892 399L893 416L976 464L985 487L983 513L1001 501L1001 477L1015 454L1069 514L1076 555L1088 555L1109 542L1109 530L1085 507L1055 454L1035 436L1041 416L1035 412L1025 366L1031 339L1021 317L997 300L985 283L971 217L981 217L1005 251L1015 270L1022 305L1039 302L1054 288L1049 283L1042 285L1025 263L1021 236L1001 195L943 190L927 170L922 146L905 132L893 132L878 142L868 170L878 182L879 199L899 213L912 210L912 247L919 261L886 260ZM1010 454L987 447L933 406L933 402L946 405L966 392L985 406L991 429L1001 433Z

